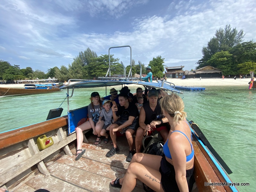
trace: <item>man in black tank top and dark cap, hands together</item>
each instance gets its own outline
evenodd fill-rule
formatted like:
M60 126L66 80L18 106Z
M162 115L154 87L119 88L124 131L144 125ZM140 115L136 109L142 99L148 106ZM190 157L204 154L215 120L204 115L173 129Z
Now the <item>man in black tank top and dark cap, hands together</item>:
M136 153L140 153L142 146L143 136L151 135L153 131L157 130L166 141L169 131L167 129L168 119L162 115L160 105L157 101L158 92L155 88L148 91L148 103L143 104L140 109L139 124L140 127L137 129L135 137ZM164 118L163 118L164 117Z

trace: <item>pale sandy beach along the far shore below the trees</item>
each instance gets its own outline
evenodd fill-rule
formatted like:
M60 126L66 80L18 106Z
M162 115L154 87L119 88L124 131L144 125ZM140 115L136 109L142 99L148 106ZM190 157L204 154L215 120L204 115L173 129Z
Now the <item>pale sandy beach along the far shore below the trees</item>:
M247 79L234 79L234 78L192 78L192 79L167 79L168 82L172 82L177 86L187 87L207 87L207 86L249 86L250 78ZM156 81L153 81L156 82ZM138 85L129 85L138 86ZM24 88L24 84L0 84L0 87L11 87L11 88Z

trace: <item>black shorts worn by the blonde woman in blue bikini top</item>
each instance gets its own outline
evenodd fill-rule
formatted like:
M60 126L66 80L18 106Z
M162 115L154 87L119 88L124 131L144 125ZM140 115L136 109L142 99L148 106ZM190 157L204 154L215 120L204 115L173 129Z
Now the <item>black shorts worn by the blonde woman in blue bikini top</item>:
M194 167L192 169L186 170L186 178L188 182L189 191L192 190L195 179L193 177ZM170 164L165 156L161 160L161 166L159 168L161 173L161 185L165 192L168 191L180 191L175 179L175 170L172 164ZM192 177L191 177L192 176Z

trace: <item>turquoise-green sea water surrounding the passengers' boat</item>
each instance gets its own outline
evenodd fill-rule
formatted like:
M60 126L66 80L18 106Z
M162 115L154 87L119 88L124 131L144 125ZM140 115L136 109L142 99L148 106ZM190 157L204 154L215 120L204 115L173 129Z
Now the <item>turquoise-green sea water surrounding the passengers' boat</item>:
M136 91L135 87L130 89L131 92ZM76 89L70 98L70 109L88 105L93 91L104 96L105 88L86 89L86 92L85 89ZM0 132L44 121L50 109L60 106L66 93L67 90L62 90L48 94L0 98ZM231 180L234 183L250 183L249 187L237 188L241 192L255 191L256 91L248 91L246 86L206 87L206 91L184 92L180 97L184 100L188 120L199 125L211 145L232 170L233 173L229 175ZM67 99L61 107L62 115L66 115Z

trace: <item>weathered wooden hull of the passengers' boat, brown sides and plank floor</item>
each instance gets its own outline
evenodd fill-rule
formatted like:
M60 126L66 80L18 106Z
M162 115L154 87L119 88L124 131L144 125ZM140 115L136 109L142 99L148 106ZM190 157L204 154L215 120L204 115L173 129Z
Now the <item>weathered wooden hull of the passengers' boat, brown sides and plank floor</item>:
M52 136L54 144L39 151L36 139L44 134ZM92 144L95 139L96 136L92 135L88 139L89 143L83 143L85 158L76 162L76 133L68 135L67 116L1 133L0 186L6 185L12 191L26 191L24 186L28 185L33 190L45 188L62 191L60 188L68 186L81 191L115 191L109 186L109 182L116 176L123 177L129 165L125 162L125 156L128 155L126 140L118 140L121 153L115 158L106 158L105 154L112 146L104 142L94 146ZM88 142L86 138L84 141ZM194 177L198 191L234 191L228 186L204 186L204 182L226 181L195 136L192 143L195 149ZM61 184L52 186L49 184L50 180ZM140 181L133 191L143 191Z

